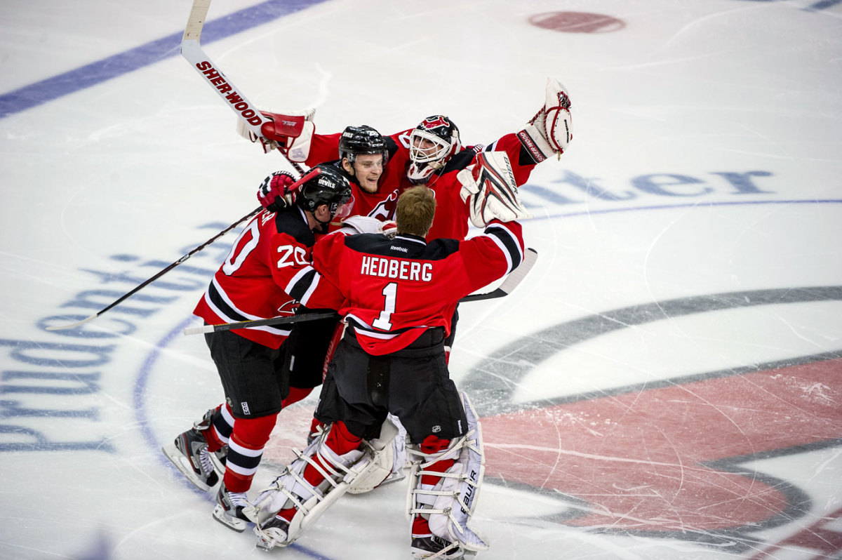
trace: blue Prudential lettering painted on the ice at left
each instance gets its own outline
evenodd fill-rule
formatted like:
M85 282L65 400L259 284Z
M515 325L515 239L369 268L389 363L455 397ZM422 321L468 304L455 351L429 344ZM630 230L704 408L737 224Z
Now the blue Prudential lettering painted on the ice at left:
M204 228L218 231L221 227L225 226L208 224ZM196 253L193 259L216 263L221 260L217 253L227 250L226 244L220 243ZM182 249L180 253L188 251L189 248ZM135 333L138 323L180 296L203 289L216 271L180 264L166 277L94 320L109 330L93 328L92 322L47 331L47 327L89 317L170 264L159 260L136 263L140 258L134 255L115 255L111 259L131 263L133 272L83 269L92 276L91 283L99 283L100 287L80 291L59 306L62 311L80 314L41 318L36 327L43 336L37 340L0 339L0 349L8 351L6 363L12 364L0 372L0 451L115 452L112 437L92 435L97 434L102 421L102 382L107 376L125 375L109 369L118 349L117 341Z

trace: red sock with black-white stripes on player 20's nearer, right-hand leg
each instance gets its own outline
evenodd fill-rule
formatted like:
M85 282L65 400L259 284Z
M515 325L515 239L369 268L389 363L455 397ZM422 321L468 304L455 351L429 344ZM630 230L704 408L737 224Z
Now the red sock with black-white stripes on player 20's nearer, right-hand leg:
M264 445L269 441L277 416L269 414L260 418L235 419L228 440L225 477L222 479L229 492L246 492L251 488L252 478L258 470Z

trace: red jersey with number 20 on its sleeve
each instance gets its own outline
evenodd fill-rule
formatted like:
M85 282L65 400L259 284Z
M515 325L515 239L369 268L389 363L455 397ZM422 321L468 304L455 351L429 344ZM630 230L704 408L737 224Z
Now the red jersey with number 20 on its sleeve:
M234 242L193 313L220 324L292 315L315 288L310 264L315 237L300 207L255 216ZM279 348L290 326L238 328L243 338Z

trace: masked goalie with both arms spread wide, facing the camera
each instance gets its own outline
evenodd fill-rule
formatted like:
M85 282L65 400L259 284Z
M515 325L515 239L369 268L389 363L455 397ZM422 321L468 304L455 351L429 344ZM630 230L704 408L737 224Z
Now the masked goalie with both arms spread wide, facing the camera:
M326 161L336 153L342 134L316 134L314 111L297 115L264 112L272 120L264 125L264 136L254 136L237 122L237 131L258 142L264 152L277 148L296 163ZM426 184L434 190L438 207L427 239L437 237L464 239L468 232L468 213L459 195L456 174L475 163L477 153L506 152L515 183L525 184L537 163L553 154L559 157L573 139L570 98L554 78L548 78L544 105L516 133L506 134L488 147L463 147L459 129L449 117L432 115L413 129L385 136L390 158L379 179L378 195L383 200L376 215L393 219L397 195L413 184ZM392 211L392 214L389 212ZM361 208L356 211L365 215ZM385 217L384 217L385 215Z

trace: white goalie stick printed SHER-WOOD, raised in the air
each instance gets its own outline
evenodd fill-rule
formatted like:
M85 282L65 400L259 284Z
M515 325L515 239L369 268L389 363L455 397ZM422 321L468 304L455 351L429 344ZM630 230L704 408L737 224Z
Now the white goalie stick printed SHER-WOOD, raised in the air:
M226 77L224 73L205 55L200 44L202 28L205 26L210 0L193 0L193 8L190 8L190 15L187 25L184 27L184 35L181 38L181 56L205 78L211 88L219 93L223 101L228 104L255 136L264 137L263 126L272 124L272 120L265 117L239 89ZM284 155L281 152L281 155ZM286 157L284 155L284 157ZM303 176L305 169L296 162L287 160L296 171Z

